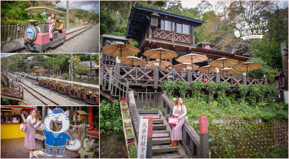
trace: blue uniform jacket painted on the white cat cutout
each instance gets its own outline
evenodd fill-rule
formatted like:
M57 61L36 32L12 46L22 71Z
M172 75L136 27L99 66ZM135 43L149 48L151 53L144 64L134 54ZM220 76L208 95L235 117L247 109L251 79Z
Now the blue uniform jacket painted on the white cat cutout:
M46 136L45 143L49 146L63 146L66 145L66 139L71 140L71 137L66 133L59 133L55 138L52 132L43 130L44 136Z

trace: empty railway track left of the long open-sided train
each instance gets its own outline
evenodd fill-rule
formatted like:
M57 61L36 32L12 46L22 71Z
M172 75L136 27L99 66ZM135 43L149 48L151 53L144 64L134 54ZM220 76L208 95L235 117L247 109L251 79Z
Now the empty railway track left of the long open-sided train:
M10 75L9 73L8 73L8 76L13 79L13 76ZM24 80L27 80L27 79L23 79L23 82L24 82ZM15 81L15 80L13 80L13 81ZM27 80L27 81L29 81L29 80ZM31 80L31 81L32 81L32 80ZM31 81L30 81L30 82L31 82ZM33 81L32 81L32 82L33 82ZM58 103L56 103L55 101L49 99L49 98L46 97L45 95L42 95L40 92L38 92L37 90L29 87L28 85L26 85L26 84L24 84L24 83L22 83L22 82L19 82L19 83L17 83L17 84L21 85L22 87L23 87L23 85L24 85L24 86L25 86L25 87L24 87L25 90L27 90L27 91L28 91L31 95L33 95L35 98L39 99L39 100L40 100L42 103L44 103L46 106L51 106L51 105L54 105L54 104L55 104L56 106L60 106L60 104L58 104ZM32 93L32 92L36 92L37 94ZM41 97L41 96L42 96L42 97ZM44 97L44 99L43 99L43 97ZM41 98L42 98L42 99L41 99ZM45 100L45 101L44 101L44 100ZM51 104L51 103L53 103L53 104Z

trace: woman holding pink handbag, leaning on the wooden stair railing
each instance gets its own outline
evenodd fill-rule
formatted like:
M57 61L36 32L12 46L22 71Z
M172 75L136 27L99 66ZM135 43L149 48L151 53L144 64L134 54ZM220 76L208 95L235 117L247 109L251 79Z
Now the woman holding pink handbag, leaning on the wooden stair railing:
M182 140L182 127L185 122L185 115L187 114L187 108L183 104L183 99L180 97L176 100L176 105L173 108L173 116L178 117L177 125L172 125L172 146L177 146L178 141Z

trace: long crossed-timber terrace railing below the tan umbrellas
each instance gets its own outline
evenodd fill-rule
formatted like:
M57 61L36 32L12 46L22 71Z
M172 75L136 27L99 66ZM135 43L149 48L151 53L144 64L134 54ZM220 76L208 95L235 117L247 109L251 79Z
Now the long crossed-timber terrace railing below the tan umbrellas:
M183 74L182 74L183 73ZM174 75L175 74L175 75ZM172 78L169 78L169 75ZM182 71L165 71L159 70L158 66L154 69L140 67L126 67L120 66L119 63L116 65L104 65L101 63L100 69L100 84L103 85L103 89L106 84L114 81L114 85L124 89L126 86L153 86L158 88L161 86L162 81L173 81L177 82L180 79L185 79L186 82L191 84L192 81L202 80L203 84L208 84L211 81L217 83L227 83L230 86L230 90L238 89L238 84L245 84L249 87L251 84L265 84L267 86L267 78L265 79L251 79L243 77L234 77L228 75L220 75L218 72L214 74L208 73L196 73L192 70L188 72ZM186 78L184 78L186 76ZM122 83L122 86L119 84ZM109 84L109 89L111 84ZM116 91L116 90L115 90Z

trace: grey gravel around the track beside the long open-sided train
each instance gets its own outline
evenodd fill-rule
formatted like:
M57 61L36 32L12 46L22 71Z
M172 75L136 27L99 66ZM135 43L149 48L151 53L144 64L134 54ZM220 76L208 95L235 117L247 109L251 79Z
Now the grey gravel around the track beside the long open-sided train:
M11 75L11 73L10 73ZM11 79L11 77L10 77ZM43 86L39 86L39 85L32 85L31 86L31 81L28 81L26 79L25 80L25 84L35 90L37 90L38 92L41 92L43 95L45 95L45 97L52 99L53 101L55 101L56 103L60 104L61 106L92 106L89 103L86 103L84 101L80 101L78 99L75 99L73 97L68 97L67 95L64 95L62 93L53 91L49 88L43 87ZM22 86L25 86L24 84L22 84ZM29 89L30 90L30 89ZM32 93L35 93L33 90L31 91ZM51 92L51 94L50 94ZM37 95L37 97L39 98L40 95ZM55 105L55 103L52 103L51 101L49 101L48 99L45 99L45 97L40 96L41 100L45 101L45 103L47 104L51 104L51 105ZM29 106L43 106L44 103L42 103L39 99L35 98L33 95L31 95L28 91L26 91L26 101L25 101Z

